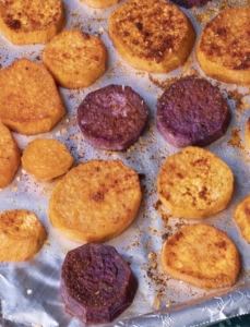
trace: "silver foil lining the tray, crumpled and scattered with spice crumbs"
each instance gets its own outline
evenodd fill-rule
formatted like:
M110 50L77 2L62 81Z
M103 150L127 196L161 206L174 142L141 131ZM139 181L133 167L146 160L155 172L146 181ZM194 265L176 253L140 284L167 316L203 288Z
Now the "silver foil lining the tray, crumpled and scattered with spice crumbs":
M235 192L228 207L207 218L205 222L226 231L236 243L241 254L242 269L234 288L204 292L170 278L163 272L159 264L165 237L180 226L197 220L170 219L158 203L156 179L159 167L169 155L179 149L164 141L155 128L156 100L164 88L181 75L204 74L199 69L193 52L183 68L169 74L150 74L129 66L116 52L107 36L109 14L122 2L96 10L79 0L63 0L67 14L64 28L79 28L99 36L108 50L108 66L106 73L87 88L59 88L67 116L50 133L43 134L43 137L67 144L74 157L74 165L93 158L121 159L141 177L143 202L138 217L122 234L107 242L129 262L139 280L139 290L131 306L107 326L209 326L213 322L250 313L249 244L241 238L233 219L235 206L250 193L250 153L243 135L245 123L250 116L249 89L207 78L218 85L227 97L233 119L226 134L206 148L231 168ZM215 1L199 10L181 10L190 17L199 36L202 26L228 3ZM230 5L235 4L239 4L239 1L230 2ZM22 57L41 62L43 49L43 45L13 46L0 34L0 65L3 69ZM106 152L92 147L84 141L76 123L76 108L86 94L111 83L133 87L151 110L145 133L126 152ZM32 140L41 136L13 135L21 149ZM63 238L49 222L48 202L57 181L37 181L21 167L12 184L0 192L0 210L32 210L48 231L46 244L33 259L0 264L0 326L84 326L78 318L66 313L59 296L60 269L66 253L81 244Z

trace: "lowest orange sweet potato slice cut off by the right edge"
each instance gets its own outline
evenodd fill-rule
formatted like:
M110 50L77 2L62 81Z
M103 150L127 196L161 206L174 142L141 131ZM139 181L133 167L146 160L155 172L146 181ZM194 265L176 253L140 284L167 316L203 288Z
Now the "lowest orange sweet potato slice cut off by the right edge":
M236 206L234 218L242 237L250 243L250 194Z

